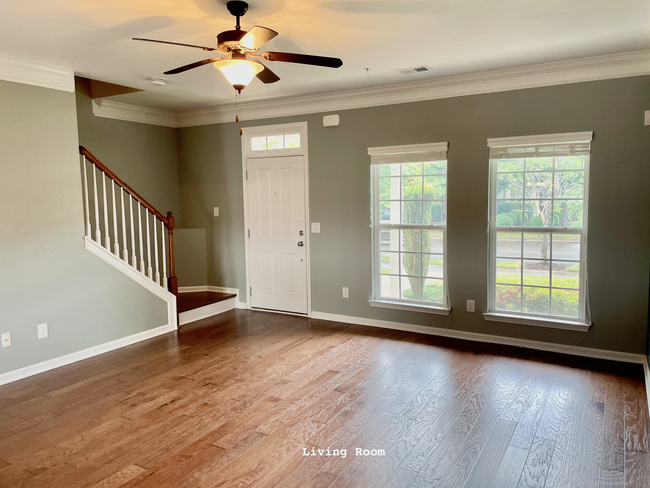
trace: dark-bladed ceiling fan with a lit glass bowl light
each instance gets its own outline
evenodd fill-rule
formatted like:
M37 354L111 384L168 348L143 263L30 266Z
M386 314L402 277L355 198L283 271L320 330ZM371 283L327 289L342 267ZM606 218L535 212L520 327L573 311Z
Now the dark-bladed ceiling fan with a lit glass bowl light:
M179 42L158 41L155 39L142 39L134 37L134 41L160 42L173 44L175 46L194 47L204 51L216 51L225 54L224 57L209 58L197 61L180 68L165 71L166 75L183 73L199 66L214 63L214 66L223 73L230 84L241 93L248 86L252 79L257 78L263 83L275 83L280 78L269 68L264 66L258 59L265 61L282 61L285 63L309 64L313 66L324 66L326 68L339 68L343 61L338 58L327 58L324 56L312 56L308 54L255 52L268 41L278 35L272 29L261 26L254 26L249 31L241 30L239 19L248 11L248 4L242 1L231 1L226 4L228 11L237 18L237 25L234 30L224 31L217 36L217 47L196 46L194 44L182 44ZM252 60L247 59L253 58Z

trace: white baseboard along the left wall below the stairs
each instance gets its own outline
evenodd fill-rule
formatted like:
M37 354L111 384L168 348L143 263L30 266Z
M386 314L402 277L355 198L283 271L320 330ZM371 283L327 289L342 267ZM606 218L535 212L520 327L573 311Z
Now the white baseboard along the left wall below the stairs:
M42 363L33 364L31 366L26 366L14 371L9 371L8 373L0 374L0 385L6 385L7 383L18 381L35 374L44 373L45 371L50 371L52 369L60 368L61 366L76 363L77 361L88 359L93 356L99 356L100 354L114 351L115 349L119 349L121 347L130 346L136 342L145 341L162 334L167 334L168 332L174 332L176 329L177 327L175 325L163 325L162 327L145 330L144 332L138 332L137 334L123 337L121 339L116 339L105 344L100 344L99 346L89 347L88 349L84 349L82 351L73 352L65 356L43 361Z

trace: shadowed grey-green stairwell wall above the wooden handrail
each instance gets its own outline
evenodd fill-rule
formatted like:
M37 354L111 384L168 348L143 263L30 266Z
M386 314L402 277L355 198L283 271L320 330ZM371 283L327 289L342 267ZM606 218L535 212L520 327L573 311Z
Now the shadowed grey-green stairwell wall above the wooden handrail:
M180 227L176 129L97 117L81 82L76 97L79 144Z

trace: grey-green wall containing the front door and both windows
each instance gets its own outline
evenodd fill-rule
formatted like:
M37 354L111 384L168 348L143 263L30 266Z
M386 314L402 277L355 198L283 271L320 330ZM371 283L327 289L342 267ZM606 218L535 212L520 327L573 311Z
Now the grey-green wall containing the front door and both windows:
M240 126L307 121L314 311L447 327L448 318L371 308L370 171L367 148L449 142L448 256L453 313L463 331L574 343L582 334L486 322L488 137L594 131L589 205L589 283L594 327L581 346L645 353L650 269L650 77L225 123L178 130L183 225L207 230L208 283L244 295ZM221 216L211 215L212 207ZM350 298L341 298L341 287ZM477 313L465 312L476 300Z

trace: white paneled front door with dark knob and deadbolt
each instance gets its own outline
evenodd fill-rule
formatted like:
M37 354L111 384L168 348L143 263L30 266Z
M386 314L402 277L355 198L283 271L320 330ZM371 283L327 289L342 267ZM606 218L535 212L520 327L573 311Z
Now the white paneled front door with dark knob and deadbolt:
M307 314L304 157L247 168L251 307Z

